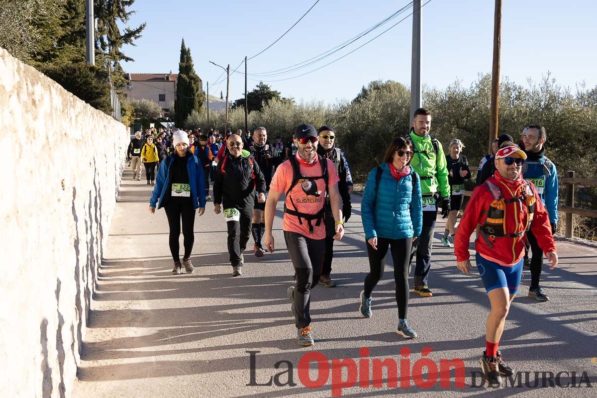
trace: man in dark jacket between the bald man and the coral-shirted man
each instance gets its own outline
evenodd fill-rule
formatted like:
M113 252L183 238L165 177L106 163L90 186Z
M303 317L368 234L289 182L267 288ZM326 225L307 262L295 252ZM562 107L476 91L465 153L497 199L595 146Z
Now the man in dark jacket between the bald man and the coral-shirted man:
M253 131L253 138L248 149L251 151L251 156L259 165L263 178L265 178L265 190L269 191L269 184L272 182L272 167L278 158L278 150L267 143L267 130L265 127L257 127ZM253 225L251 226L251 233L253 233L253 240L255 246L253 251L257 257L263 257L265 249L261 246L261 238L265 233L265 203L255 203L253 209Z

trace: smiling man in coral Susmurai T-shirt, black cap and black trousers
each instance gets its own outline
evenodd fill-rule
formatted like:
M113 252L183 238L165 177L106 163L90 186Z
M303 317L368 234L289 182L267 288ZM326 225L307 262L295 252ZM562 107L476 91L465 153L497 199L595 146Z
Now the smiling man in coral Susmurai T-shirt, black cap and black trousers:
M288 288L288 298L298 329L298 344L313 345L311 332L311 289L319 282L325 252L325 195L330 195L336 221L334 239L344 235L342 199L338 191L338 173L330 159L317 155L318 133L310 124L302 124L294 132L297 152L276 169L265 204L263 245L273 253L273 218L276 203L284 192L284 240L297 275L296 286Z

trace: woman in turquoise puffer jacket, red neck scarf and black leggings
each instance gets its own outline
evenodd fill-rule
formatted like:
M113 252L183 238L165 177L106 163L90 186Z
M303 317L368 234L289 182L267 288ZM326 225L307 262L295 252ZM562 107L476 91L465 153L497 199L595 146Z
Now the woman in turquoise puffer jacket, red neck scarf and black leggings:
M371 292L383 275L389 247L398 304L396 333L405 338L417 337L407 323L408 261L413 241L421 234L423 218L419 178L408 165L412 156L411 141L402 137L393 140L383 163L370 172L361 202L370 272L365 277L359 313L362 317L371 317Z

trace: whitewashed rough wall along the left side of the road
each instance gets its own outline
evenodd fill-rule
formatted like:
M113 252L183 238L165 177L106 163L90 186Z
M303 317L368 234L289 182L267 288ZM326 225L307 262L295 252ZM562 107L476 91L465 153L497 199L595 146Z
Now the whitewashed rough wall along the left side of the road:
M70 396L129 140L0 48L2 396Z

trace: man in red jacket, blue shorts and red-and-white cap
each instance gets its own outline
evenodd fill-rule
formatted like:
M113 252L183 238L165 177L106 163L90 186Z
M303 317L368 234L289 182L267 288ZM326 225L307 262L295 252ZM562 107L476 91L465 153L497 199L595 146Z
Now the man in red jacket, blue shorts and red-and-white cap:
M558 264L555 242L547 211L532 183L522 179L527 155L512 142L496 153L493 177L475 188L464 210L454 239L458 269L469 275L469 239L477 224L481 231L475 241L475 260L491 303L485 325L486 349L481 370L489 384L513 374L497 350L504 322L521 281L525 231L537 237L539 247L553 269Z

